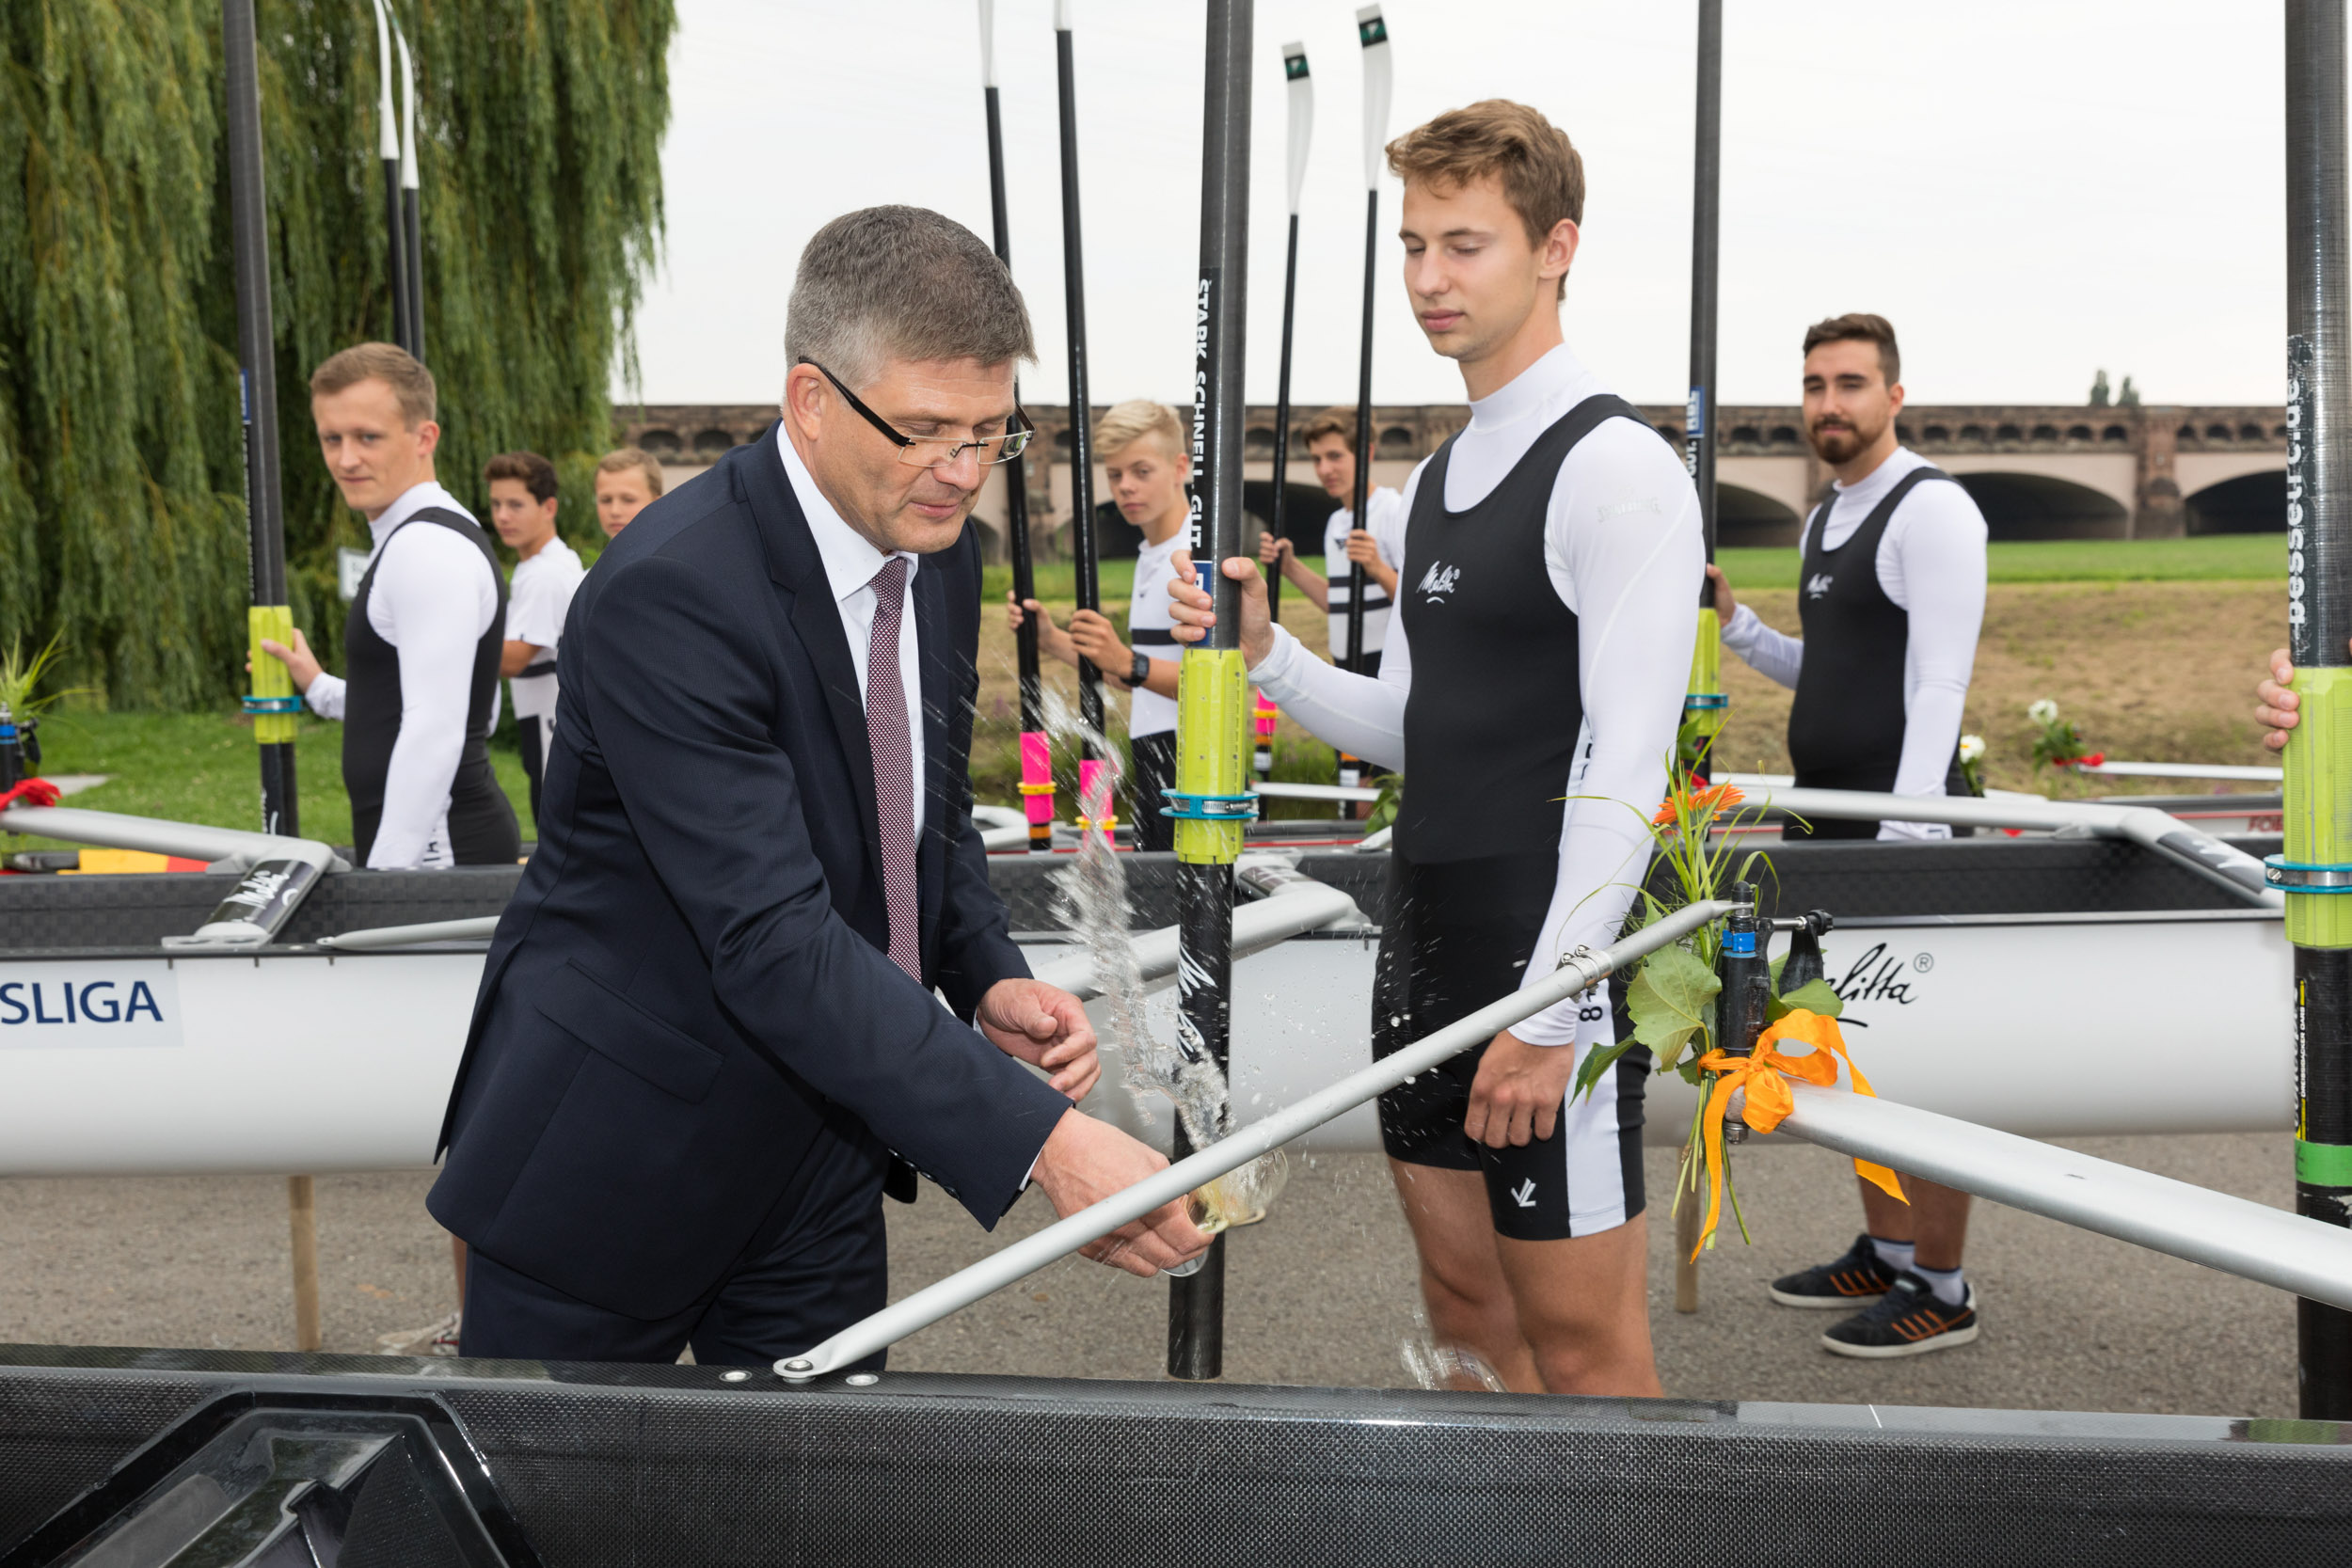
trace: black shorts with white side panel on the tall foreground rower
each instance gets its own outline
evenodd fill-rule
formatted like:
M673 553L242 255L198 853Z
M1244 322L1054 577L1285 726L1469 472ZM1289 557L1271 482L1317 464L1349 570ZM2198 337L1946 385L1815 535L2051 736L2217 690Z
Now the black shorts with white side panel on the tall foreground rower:
M1388 919L1371 985L1371 1053L1392 1056L1519 990L1557 877L1552 856L1409 865L1390 858ZM1597 999L1585 1006L1602 1006ZM1595 1044L1632 1030L1618 976ZM1590 1025L1604 1020L1588 1018ZM1566 1046L1562 1046L1566 1048ZM1618 1058L1592 1095L1562 1107L1550 1138L1489 1150L1463 1133L1470 1084L1486 1046L1381 1095L1381 1145L1409 1166L1479 1171L1498 1234L1562 1241L1642 1213L1642 1088L1649 1051Z

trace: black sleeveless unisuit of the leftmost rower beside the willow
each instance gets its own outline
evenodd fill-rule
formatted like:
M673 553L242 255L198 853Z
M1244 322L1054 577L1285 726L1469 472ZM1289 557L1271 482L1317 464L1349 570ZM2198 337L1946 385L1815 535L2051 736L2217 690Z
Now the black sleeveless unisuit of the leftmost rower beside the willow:
M499 609L473 649L466 745L456 757L456 778L449 780L449 853L459 865L513 865L522 856L522 832L515 827L515 809L499 788L499 776L489 769L489 715L499 698L499 654L506 651L506 578L480 524L459 512L426 508L400 529L419 522L470 538L489 562L489 581L499 590ZM393 548L400 529L390 531L383 550ZM383 550L376 550L376 562L383 559ZM360 851L360 865L367 865L367 851L374 849L376 827L383 823L383 780L393 769L402 708L400 649L367 623L376 562L369 562L367 576L360 578L350 618L343 623L343 661L350 672L343 696L343 790L350 795L350 842Z

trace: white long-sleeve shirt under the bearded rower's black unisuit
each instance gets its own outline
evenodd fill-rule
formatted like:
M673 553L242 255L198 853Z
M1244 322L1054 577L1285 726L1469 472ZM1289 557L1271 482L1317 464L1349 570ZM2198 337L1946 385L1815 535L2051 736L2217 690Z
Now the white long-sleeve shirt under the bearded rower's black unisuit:
M1863 527L1903 475L1929 468L1917 451L1893 456L1853 484L1832 489L1830 517L1820 527L1823 550L1835 550ZM1957 484L1915 484L1879 536L1879 588L1910 616L1903 651L1903 759L1896 795L1943 795L1959 745L1969 677L1976 672L1976 637L1985 625L1985 515ZM1736 588L1736 585L1733 585ZM1783 686L1797 686L1804 639L1776 632L1745 604L1724 628L1724 646L1748 668ZM1879 823L1882 839L1947 839L1945 823Z

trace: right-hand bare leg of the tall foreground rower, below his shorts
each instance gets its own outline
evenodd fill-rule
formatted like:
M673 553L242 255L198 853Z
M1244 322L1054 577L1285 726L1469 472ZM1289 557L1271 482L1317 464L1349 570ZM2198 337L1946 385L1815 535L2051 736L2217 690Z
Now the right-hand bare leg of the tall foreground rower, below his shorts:
M1552 1394L1661 1399L1649 1347L1649 1215L1592 1237L1496 1237L1519 1333Z

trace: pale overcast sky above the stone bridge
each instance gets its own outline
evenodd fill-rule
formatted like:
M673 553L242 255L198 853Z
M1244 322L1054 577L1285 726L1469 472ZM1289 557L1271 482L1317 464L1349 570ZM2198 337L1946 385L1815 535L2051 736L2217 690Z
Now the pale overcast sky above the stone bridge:
M1014 277L1035 402L1065 397L1051 0L1000 0ZM1696 0L1390 0L1388 134L1484 96L1585 158L1569 343L1679 402L1689 357ZM1879 310L1917 402L2274 402L2284 339L2274 5L1731 0L1722 400L1792 402L1804 324ZM1075 0L1096 402L1181 400L1200 256L1202 0ZM1352 0L1256 7L1249 397L1275 395L1279 47L1308 47L1301 404L1355 395L1364 153ZM680 0L668 242L637 341L649 402L767 402L793 261L830 216L936 207L988 237L974 0ZM1374 397L1458 402L1397 280L1383 176Z

